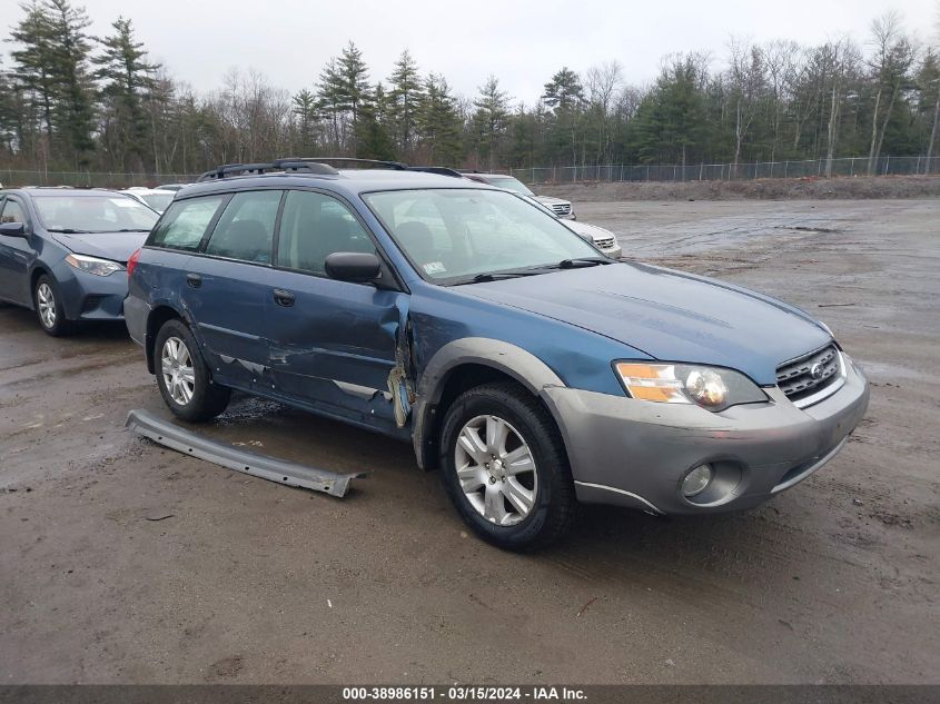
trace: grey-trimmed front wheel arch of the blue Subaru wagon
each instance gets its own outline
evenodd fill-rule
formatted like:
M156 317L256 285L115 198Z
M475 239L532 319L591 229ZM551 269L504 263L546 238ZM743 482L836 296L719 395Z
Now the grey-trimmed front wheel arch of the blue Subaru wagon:
M464 338L442 347L424 368L416 389L412 443L423 469L437 467L439 422L449 404L467 389L496 381L514 381L548 412L564 443L564 433L542 390L565 386L548 365L532 353L502 340Z

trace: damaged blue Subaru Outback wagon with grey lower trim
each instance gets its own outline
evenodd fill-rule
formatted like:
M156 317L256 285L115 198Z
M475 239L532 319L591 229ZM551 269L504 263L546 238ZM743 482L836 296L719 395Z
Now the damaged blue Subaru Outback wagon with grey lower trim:
M178 417L239 389L410 442L473 529L514 549L557 538L578 500L755 506L830 460L868 406L799 308L607 259L448 176L221 167L128 272L127 326Z

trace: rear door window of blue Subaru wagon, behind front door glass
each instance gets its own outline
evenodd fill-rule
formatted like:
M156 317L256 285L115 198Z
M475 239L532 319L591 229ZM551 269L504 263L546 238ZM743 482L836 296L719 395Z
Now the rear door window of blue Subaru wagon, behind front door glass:
M270 264L277 209L284 191L236 194L219 218L206 254L254 264Z

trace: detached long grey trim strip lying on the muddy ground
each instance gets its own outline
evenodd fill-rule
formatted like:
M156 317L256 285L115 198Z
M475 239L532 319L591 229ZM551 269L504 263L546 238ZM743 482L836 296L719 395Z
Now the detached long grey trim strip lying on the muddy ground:
M269 482L324 492L340 498L346 496L353 479L367 476L364 472L342 474L248 453L197 435L140 408L127 414L125 427L184 455L191 455Z

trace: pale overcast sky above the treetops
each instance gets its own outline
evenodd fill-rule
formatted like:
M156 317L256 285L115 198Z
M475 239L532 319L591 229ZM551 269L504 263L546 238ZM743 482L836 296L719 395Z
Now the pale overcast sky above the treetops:
M12 9L14 0L2 0ZM123 13L152 57L197 90L232 68L253 68L291 91L352 39L373 80L408 48L423 72L444 73L473 96L489 73L515 99L534 102L562 66L584 71L616 59L631 83L652 80L664 54L725 54L731 36L819 43L859 41L871 20L897 10L921 39L933 36L940 0L75 0L107 33ZM8 23L17 14L0 13ZM3 47L2 50L6 50Z

